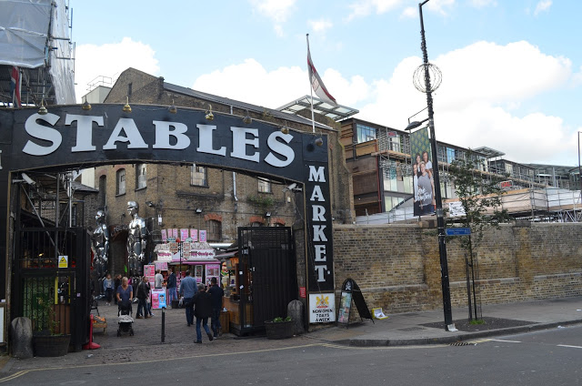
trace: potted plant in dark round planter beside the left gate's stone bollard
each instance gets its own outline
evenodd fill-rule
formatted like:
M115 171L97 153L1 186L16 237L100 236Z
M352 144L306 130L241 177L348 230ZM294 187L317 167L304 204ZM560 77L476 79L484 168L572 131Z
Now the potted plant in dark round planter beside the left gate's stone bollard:
M34 312L35 332L33 332L33 348L38 357L60 357L66 355L71 341L70 334L64 334L60 329L53 304L38 297L38 305Z

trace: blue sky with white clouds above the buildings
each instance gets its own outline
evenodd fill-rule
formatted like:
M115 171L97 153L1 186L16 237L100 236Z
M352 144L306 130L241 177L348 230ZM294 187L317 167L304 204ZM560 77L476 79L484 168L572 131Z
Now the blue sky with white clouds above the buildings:
M128 67L277 108L317 72L356 118L404 129L426 118L418 2L411 0L70 0L77 101ZM492 147L522 163L578 165L582 2L430 0L422 6L438 141Z

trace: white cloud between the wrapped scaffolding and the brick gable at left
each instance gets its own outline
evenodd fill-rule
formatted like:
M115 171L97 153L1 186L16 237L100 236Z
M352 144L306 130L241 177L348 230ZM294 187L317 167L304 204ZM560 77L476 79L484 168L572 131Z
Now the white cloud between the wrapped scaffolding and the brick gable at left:
M75 94L80 103L85 96L87 84L97 76L118 76L127 67L134 67L147 74L157 75L160 68L156 52L148 45L124 37L119 43L103 46L76 46L75 53Z

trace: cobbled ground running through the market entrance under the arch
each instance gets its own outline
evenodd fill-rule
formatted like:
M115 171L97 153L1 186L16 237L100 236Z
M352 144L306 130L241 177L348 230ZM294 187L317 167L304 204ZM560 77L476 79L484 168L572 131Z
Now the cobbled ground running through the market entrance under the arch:
M134 317L137 304L134 304ZM245 353L255 350L285 349L316 343L305 336L287 340L267 340L265 336L239 338L225 333L216 340L209 341L203 330L203 344L195 344L196 327L187 327L184 309L166 310L166 339L161 341L162 310L153 310L155 316L149 319L135 320L135 335L122 332L117 337L117 306L105 306L99 302L99 314L107 320L107 329L95 329L93 340L101 345L97 350L69 352L64 357L40 358L29 360L13 359L10 371L32 370L79 365L102 365L110 363L127 363L133 361L169 361L176 358L200 356L219 353ZM95 312L96 313L96 312ZM210 325L210 320L208 320Z

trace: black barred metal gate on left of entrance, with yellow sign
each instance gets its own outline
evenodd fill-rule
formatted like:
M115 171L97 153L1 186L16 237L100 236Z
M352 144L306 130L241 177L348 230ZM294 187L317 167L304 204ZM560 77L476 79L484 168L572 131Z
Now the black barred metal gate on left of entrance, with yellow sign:
M11 320L24 316L33 332L88 341L90 238L82 228L25 228L15 233Z

